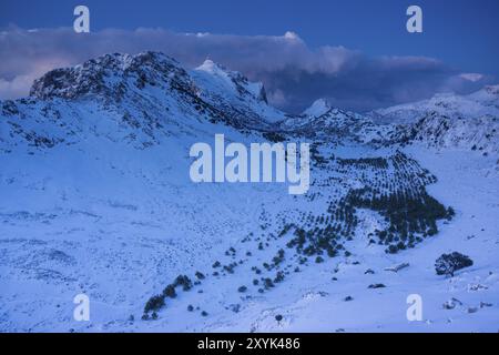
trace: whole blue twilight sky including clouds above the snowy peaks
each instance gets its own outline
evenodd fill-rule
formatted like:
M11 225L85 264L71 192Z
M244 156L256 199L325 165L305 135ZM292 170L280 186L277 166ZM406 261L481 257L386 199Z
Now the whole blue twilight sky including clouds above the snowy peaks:
M69 33L77 4L90 8L93 33L84 40L88 51L79 48L78 55L70 40L74 33ZM422 34L406 31L410 4L422 8ZM138 28L156 31L138 34ZM427 98L437 90L467 92L499 78L498 0L1 0L0 29L4 31L0 60L7 60L0 70L0 98L19 95L26 90L19 81L26 84L28 77L42 69L101 54L106 43L110 51L162 50L187 65L213 57L252 80L264 81L271 101L291 111L303 109L317 95L368 110ZM47 31L21 33L29 29ZM109 33L110 29L119 34ZM293 50L279 39L288 31L299 40ZM194 42L175 36L197 32L212 36ZM41 47L52 50L52 55ZM271 68L262 59L267 51ZM26 59L14 65L16 55L28 55L31 62ZM296 61L288 62L293 55ZM286 65L277 65L279 61ZM462 73L482 77L461 80ZM374 80L369 88L359 83L366 79ZM407 83L400 88L400 82ZM289 90L292 84L303 88Z

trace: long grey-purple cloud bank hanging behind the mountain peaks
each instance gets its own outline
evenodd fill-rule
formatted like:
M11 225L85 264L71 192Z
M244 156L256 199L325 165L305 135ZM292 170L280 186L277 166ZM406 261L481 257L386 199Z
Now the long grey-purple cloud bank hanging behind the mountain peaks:
M164 29L72 29L0 32L0 98L29 92L45 71L81 63L110 52L162 51L186 67L210 57L251 80L263 81L271 103L301 112L318 98L357 111L416 101L440 91L469 92L490 82L424 57L370 58L337 45L309 48L298 34L232 36L176 33Z

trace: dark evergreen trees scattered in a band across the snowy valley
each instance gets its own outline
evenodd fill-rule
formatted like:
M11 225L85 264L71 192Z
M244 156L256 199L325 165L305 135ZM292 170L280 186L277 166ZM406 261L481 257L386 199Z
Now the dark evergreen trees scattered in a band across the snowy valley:
M278 136L267 136L268 140L278 140ZM314 159L317 163L325 163L318 151L313 146ZM389 160L385 158L367 158L367 159L338 159L342 168L354 166L360 170L359 179L369 187L350 190L346 196L339 200L329 200L326 214L308 215L302 214L302 221L285 224L283 219L282 230L276 236L283 237L293 231L293 237L287 243L288 248L295 248L299 264L307 262L308 257L313 257L316 263L324 262L324 255L334 257L339 253L348 256L350 253L345 250L343 241L352 240L355 236L355 230L358 225L357 210L368 209L378 212L385 217L387 227L376 231L378 243L387 245L388 253L397 253L399 250L413 247L416 243L421 242L424 237L438 233L437 222L442 219L451 219L455 211L446 209L436 199L430 196L426 191L426 184L436 181L428 171L422 170L419 164L405 154L398 152ZM329 197L332 199L332 197ZM265 231L269 223L262 225ZM374 237L374 236L373 236ZM249 241L247 237L245 241ZM256 239L255 242L261 239ZM267 237L267 242L269 237ZM375 242L373 240L373 242ZM268 246L268 243L258 242L258 250ZM226 251L226 256L235 257L236 251L231 247ZM246 253L251 256L251 253ZM467 267L472 264L465 255L442 255L437 260L436 270L439 274L452 275L456 270ZM253 285L258 286L258 292L263 293L275 284L281 283L285 278L281 264L285 258L285 251L279 250L272 258L272 262L264 263L263 270L267 272L276 268L275 277L262 277L253 280ZM242 263L243 261L240 261ZM233 262L228 265L222 265L215 262L213 268L222 268L225 273L234 273L234 268L238 264ZM262 270L256 266L252 267L255 274L261 275ZM296 267L295 272L298 272ZM218 275L215 271L214 274ZM196 273L198 283L205 276ZM176 287L181 286L184 291L192 288L191 280L185 275L180 275L174 283L167 285L162 294L151 297L145 307L144 315L149 317L149 313L155 312L165 306L165 298L176 297ZM384 285L371 285L383 287ZM245 293L246 286L237 288L238 292ZM157 316L157 315L156 315ZM154 317L153 317L154 318Z

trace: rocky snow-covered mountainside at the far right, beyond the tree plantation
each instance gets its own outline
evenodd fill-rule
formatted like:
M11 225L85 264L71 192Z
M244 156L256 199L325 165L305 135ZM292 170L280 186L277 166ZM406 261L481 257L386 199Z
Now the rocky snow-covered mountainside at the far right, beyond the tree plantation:
M368 116L389 128L385 131L389 142L421 142L482 154L499 152L498 85L469 95L438 94L427 101L378 110Z

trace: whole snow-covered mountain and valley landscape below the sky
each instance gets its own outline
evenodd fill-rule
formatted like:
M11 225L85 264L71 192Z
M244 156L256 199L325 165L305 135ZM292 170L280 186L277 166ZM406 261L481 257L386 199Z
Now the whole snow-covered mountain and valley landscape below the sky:
M51 71L0 101L0 331L495 332L497 135L470 133L488 114L287 115L241 73L155 52ZM220 133L310 143L308 193L193 183L190 148ZM473 266L438 276L454 251Z

